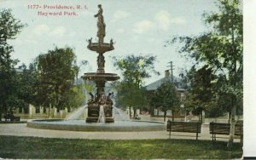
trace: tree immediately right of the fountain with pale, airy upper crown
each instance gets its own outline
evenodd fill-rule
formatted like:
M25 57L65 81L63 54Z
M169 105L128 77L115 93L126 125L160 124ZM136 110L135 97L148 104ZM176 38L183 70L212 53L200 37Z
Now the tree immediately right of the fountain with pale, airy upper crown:
M154 70L155 57L149 54L143 55L127 55L123 58L113 57L114 66L122 71L123 81L116 86L118 93L118 104L123 103L130 108L140 108L146 104L145 90L143 83L145 78L151 77L150 73L159 74Z

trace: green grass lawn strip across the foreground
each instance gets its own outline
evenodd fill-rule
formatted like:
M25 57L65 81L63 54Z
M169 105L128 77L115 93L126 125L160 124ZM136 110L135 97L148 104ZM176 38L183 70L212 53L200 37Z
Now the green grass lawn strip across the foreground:
M232 151L226 142L211 140L79 140L0 135L2 158L57 159L233 159L242 154L241 145Z

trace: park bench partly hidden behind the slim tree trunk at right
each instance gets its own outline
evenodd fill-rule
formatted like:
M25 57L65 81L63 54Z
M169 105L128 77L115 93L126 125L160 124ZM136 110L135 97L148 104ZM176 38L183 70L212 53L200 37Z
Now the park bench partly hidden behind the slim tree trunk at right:
M210 123L210 134L212 134L212 141L216 141L216 134L230 134L230 123ZM240 136L241 142L243 137L243 124L236 123L235 135Z

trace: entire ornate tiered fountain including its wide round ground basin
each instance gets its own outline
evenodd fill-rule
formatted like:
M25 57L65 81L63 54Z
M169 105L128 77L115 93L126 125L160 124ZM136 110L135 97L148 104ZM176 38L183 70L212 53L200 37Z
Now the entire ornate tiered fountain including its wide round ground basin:
M84 120L71 118L71 119L40 119L28 121L26 126L34 129L57 129L57 130L73 130L73 131L91 131L91 132L134 132L134 131L156 131L165 130L166 123L160 122L137 122L129 120L119 120L121 112L114 111L116 116L115 123L113 120L113 102L110 99L111 94L105 94L105 83L108 81L116 81L119 76L114 73L105 73L104 65L105 60L103 54L113 50L113 40L110 43L104 43L105 37L105 24L102 16L102 6L98 5L99 11L95 17L98 18L97 22L97 37L98 42L92 43L90 38L88 40L88 49L95 51L98 54L96 72L84 73L84 80L96 82L96 94L90 93L90 100L88 102L88 117L86 123ZM79 112L84 111L81 108ZM118 114L117 114L118 113ZM104 125L108 123L108 125ZM103 125L102 125L103 124Z

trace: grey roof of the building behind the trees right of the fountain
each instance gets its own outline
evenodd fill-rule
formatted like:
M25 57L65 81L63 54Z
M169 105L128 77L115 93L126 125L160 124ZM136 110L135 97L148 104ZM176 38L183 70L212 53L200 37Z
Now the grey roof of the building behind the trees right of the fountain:
M160 80L157 80L155 81L154 83L150 83L146 86L146 89L149 91L149 90L156 90L157 88L160 87L160 85L162 83L165 83L165 82L172 82L172 77L163 77L163 78L160 78ZM176 89L178 91L185 91L185 89L183 89L183 83L181 83L181 79L178 78L178 77L174 77L173 76L173 83L176 87Z

